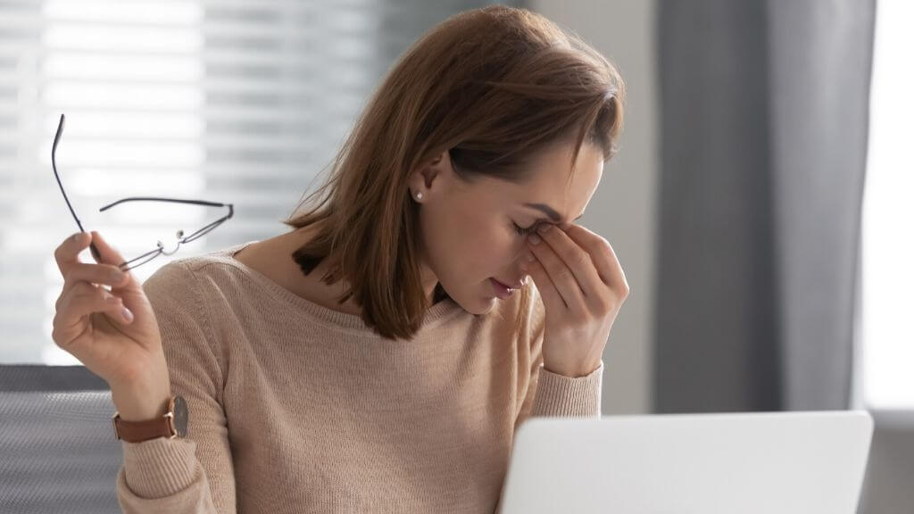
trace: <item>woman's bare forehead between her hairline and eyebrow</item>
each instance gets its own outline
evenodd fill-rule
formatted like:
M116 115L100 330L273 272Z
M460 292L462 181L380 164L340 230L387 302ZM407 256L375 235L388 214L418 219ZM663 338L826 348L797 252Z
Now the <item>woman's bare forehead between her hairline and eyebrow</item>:
M555 209L566 221L574 220L587 207L600 184L603 173L603 154L596 145L580 147L577 169L571 172L574 145L555 145L527 162L527 179L518 184L505 183L508 195L518 208L526 203L541 203ZM540 211L526 209L533 215L546 217Z

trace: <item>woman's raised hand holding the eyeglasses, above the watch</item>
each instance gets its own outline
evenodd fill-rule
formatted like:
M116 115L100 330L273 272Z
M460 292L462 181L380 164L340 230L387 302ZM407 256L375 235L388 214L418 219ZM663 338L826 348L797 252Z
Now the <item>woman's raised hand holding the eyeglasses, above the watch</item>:
M80 252L90 241L101 254L98 264L80 262ZM133 273L118 268L125 261L122 255L92 231L67 238L54 258L64 277L51 333L54 342L108 382L123 419L165 413L159 410L171 395L171 385L162 337L143 285ZM120 278L112 273L121 273Z

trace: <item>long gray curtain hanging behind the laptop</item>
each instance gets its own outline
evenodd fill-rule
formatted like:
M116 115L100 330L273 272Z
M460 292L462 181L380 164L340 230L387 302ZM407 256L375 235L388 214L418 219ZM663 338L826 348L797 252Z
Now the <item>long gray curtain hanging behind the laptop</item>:
M660 0L657 412L845 409L875 0Z

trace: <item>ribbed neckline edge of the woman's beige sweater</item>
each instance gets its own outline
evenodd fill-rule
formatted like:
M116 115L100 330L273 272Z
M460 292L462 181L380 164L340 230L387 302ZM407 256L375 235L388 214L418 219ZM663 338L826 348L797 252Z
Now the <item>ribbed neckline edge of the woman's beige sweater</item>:
M255 282L265 287L271 292L271 294L274 294L282 301L303 310L307 315L313 316L317 320L334 325L336 327L344 327L355 330L356 332L370 332L377 336L377 332L375 332L374 327L368 327L365 320L363 320L361 316L335 311L331 308L325 307L324 305L315 304L311 300L303 298L298 294L294 294L292 291L282 287L282 285L273 282L271 278L251 268L244 262L235 259L236 253L240 252L246 246L255 242L260 242L260 240L252 240L236 244L234 246L229 246L228 248L219 250L215 253L230 262L242 273L248 275ZM442 321L450 318L452 315L462 312L462 310L463 308L454 302L452 298L445 298L437 304L432 305L430 309L426 311L420 327L427 328L437 326Z

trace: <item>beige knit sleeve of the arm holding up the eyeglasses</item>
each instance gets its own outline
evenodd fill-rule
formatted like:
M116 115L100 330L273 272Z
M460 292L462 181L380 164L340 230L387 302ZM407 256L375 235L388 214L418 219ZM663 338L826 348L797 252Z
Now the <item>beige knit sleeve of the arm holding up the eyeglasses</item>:
M126 514L234 514L235 478L222 407L222 352L186 262L165 264L143 284L162 334L173 394L187 403L185 439L122 441L117 498Z

